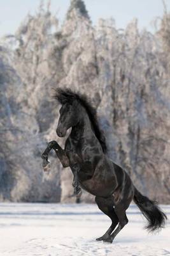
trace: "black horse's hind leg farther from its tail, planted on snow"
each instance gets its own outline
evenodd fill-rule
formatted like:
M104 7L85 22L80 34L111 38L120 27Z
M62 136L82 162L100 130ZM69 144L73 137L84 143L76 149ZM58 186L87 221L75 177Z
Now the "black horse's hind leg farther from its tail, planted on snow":
M107 241L107 239L110 239L110 235L115 229L115 227L118 224L118 217L113 209L113 197L110 198L101 198L99 196L96 196L95 198L96 204L98 205L99 209L104 212L104 214L108 215L111 219L111 226L108 228L106 233L97 238L97 241Z

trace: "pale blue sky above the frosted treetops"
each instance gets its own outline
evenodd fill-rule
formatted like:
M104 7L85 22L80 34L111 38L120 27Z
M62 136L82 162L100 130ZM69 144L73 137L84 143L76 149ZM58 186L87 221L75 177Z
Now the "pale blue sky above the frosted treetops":
M165 0L170 12L170 0ZM89 15L94 24L99 18L113 17L117 28L125 26L134 17L138 18L139 29L154 31L152 20L163 14L162 0L85 0ZM70 0L52 0L52 12L62 22ZM0 36L14 33L27 13L34 14L39 0L0 0Z

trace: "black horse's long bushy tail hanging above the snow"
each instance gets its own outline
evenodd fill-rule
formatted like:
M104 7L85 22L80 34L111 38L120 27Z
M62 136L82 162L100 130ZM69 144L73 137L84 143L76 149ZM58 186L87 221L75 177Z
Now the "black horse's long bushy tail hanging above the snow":
M150 232L164 228L167 216L160 210L157 202L150 200L148 197L141 195L138 189L134 188L134 202L138 205L142 214L148 220L146 229Z

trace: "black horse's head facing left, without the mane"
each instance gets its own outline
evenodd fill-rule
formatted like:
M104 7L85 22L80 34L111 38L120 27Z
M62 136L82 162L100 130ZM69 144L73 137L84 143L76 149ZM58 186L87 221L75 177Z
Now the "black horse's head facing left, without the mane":
M60 117L56 130L59 137L66 136L67 130L78 124L80 120L80 108L78 108L78 105L76 100L62 104L59 111Z

